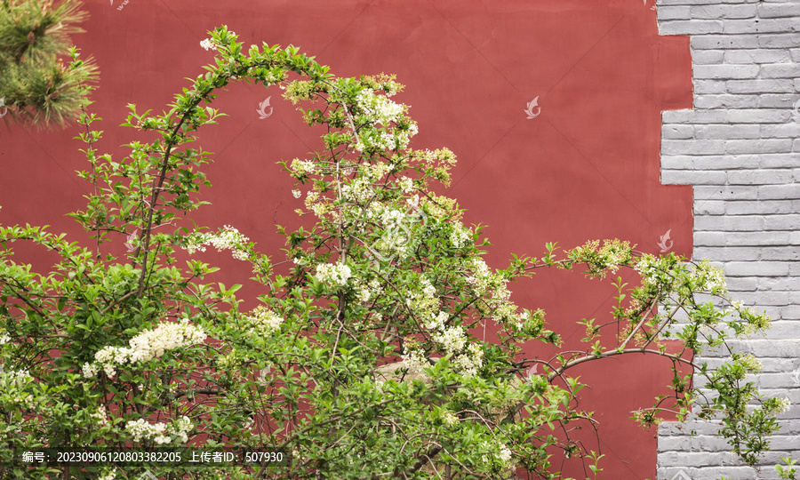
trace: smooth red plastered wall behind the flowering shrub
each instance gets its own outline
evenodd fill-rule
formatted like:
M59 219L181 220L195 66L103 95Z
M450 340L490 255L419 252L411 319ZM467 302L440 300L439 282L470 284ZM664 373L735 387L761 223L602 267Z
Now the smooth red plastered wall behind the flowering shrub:
M691 254L691 188L659 182L660 111L692 105L689 42L658 36L652 0L125 2L87 5L87 33L75 39L100 65L93 95L104 118L95 125L105 131L100 153L124 155L116 146L135 138L116 126L125 105L161 111L185 77L212 61L199 45L205 32L227 24L245 44L298 45L338 76L396 74L406 90L395 100L411 105L420 124L414 147L446 146L459 156L446 194L468 209L468 221L489 225L492 266L505 265L511 252L541 256L549 241L572 247L619 237L655 253L667 230L672 251ZM280 90L229 90L217 104L229 116L198 142L217 155L205 195L212 205L197 220L234 225L277 252L275 225L291 226L300 201L276 161L304 156L318 137ZM260 120L256 109L267 97L274 112ZM527 119L535 97L540 115ZM33 132L7 120L0 122L0 222L75 231L64 214L80 208L90 188L74 174L84 168L82 145L71 140L79 129ZM122 242L110 248L124 252ZM226 256L206 255L229 272L220 281L248 276ZM623 277L636 282L630 272ZM582 337L574 322L607 316L615 294L566 272L541 273L513 292L524 306L545 308L567 345ZM537 348L528 355L547 354ZM667 369L629 358L578 372L592 385L584 407L600 421L601 478L655 476L655 431L628 416L665 393Z

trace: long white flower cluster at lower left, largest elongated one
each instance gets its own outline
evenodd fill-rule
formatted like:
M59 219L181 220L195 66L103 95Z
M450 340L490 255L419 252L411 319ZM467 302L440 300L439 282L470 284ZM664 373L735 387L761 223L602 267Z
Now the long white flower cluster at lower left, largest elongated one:
M160 324L154 330L141 332L130 341L130 347L106 347L94 354L94 362L84 364L85 378L93 377L102 369L109 377L116 375L116 368L123 364L147 362L156 356L164 355L166 350L188 347L202 343L206 334L202 327L188 323L184 318L180 323Z

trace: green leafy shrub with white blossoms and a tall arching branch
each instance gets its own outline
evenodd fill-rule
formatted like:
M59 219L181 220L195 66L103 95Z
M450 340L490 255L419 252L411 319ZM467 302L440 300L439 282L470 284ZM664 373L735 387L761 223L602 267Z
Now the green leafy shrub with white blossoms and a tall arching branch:
M541 259L489 268L480 228L465 227L455 201L430 189L449 181L455 156L409 147L418 127L404 105L389 100L402 90L394 77L337 78L294 47L253 45L245 54L227 28L202 45L216 52L215 64L168 112L131 108L129 126L158 140L134 142L131 155L112 161L94 148L100 132L88 127L95 117L82 117L92 168L81 176L98 193L74 216L98 246L129 236L127 256L100 257L43 228L0 228L0 375L8 386L0 396L0 476L133 478L148 468L168 478L561 478L551 462L559 451L596 472L602 455L564 428L590 418L569 371L628 354L674 365L671 403L658 398L637 420L652 425L689 412L703 393L681 375L682 366L692 367L715 393L700 416L724 422L723 435L748 463L764 452L785 404L762 402L748 381L756 360L734 355L715 369L684 355L768 326L767 317L728 299L716 269L641 254L617 240L589 242L564 258L548 244ZM304 196L299 213L314 220L313 228L284 231L292 260L286 275L275 274L233 227L156 232L201 206L208 157L188 143L219 116L202 105L234 80L281 85L285 98L310 105L301 109L309 125L327 130L315 156L283 163L293 195ZM12 260L12 244L23 240L60 255L52 273ZM252 263L260 307L244 314L237 286L204 284L214 271L204 262L175 266L178 249L206 245ZM636 268L642 283L626 289L617 281L611 322L581 322L586 348L528 360L519 356L524 341L561 345L543 311L510 299L508 283L536 268L597 278ZM732 308L700 300L702 292ZM478 338L487 326L496 342ZM666 338L688 351L668 351ZM748 408L753 402L760 407ZM44 445L179 444L272 446L292 456L282 465L225 471L26 467L15 456Z

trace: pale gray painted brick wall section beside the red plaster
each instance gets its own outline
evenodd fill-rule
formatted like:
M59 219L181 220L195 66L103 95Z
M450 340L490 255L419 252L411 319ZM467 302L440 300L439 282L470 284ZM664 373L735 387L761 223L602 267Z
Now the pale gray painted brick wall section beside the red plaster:
M661 182L694 186L693 258L772 316L766 337L735 347L764 364L765 394L792 402L757 468L727 452L718 425L662 424L658 478L778 478L781 456L800 459L800 0L657 5L661 35L691 38L694 84L694 108L663 113Z

